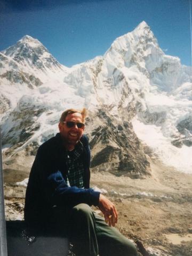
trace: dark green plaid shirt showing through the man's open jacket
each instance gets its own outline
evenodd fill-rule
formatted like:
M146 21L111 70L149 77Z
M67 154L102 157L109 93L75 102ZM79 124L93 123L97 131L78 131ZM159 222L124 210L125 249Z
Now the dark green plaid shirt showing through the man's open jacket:
M78 188L84 188L83 174L84 166L83 161L81 161L81 155L83 153L83 144L81 141L77 143L75 149L72 151L67 151L67 185L76 186ZM80 158L80 161L79 161Z

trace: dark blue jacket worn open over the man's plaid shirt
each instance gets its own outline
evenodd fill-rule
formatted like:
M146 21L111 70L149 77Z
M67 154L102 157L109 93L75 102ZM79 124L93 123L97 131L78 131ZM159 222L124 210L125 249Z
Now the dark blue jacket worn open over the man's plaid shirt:
M79 203L98 205L99 193L90 188L90 148L85 135L82 136L83 153L79 161L84 165L85 188L69 187L66 183L67 152L63 148L60 133L38 148L29 175L25 200L25 220L38 223L46 220L50 209L73 207Z

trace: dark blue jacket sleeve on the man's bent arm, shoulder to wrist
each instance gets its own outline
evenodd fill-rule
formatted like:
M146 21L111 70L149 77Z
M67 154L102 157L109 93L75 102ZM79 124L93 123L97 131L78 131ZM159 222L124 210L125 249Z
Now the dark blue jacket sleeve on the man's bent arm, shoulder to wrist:
M75 206L86 203L97 206L99 195L92 188L69 187L60 170L54 163L54 157L41 147L38 150L35 165L40 173L42 197L50 205Z

